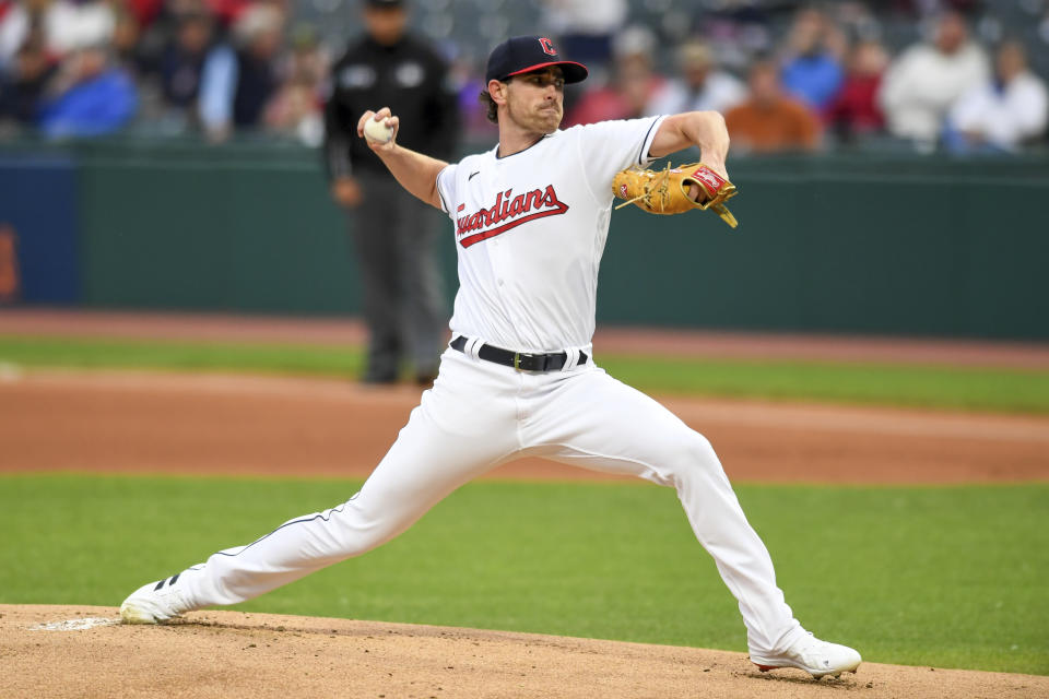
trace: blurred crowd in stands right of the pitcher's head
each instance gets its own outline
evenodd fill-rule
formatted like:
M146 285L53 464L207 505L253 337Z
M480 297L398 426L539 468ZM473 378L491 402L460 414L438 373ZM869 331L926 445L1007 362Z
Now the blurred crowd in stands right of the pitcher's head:
M894 11L922 19L899 4ZM735 50L744 35L711 22L679 45L669 74L652 61L657 36L628 27L611 37L605 84L571 105L567 123L717 109L734 151L756 153L889 140L922 152L1009 153L1044 143L1046 82L1025 44L975 39L976 3L924 4L934 5L927 38L895 54L871 5L838 2L793 9L779 40L763 39L744 58Z

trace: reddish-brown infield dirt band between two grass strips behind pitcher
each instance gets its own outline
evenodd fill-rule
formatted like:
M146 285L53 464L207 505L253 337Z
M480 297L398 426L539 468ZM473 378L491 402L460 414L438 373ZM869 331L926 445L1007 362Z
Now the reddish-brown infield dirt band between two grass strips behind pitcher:
M1049 417L661 399L733 479L988 483L1049 478ZM332 379L33 370L0 381L0 472L364 477L414 388ZM539 459L495 477L608 477Z

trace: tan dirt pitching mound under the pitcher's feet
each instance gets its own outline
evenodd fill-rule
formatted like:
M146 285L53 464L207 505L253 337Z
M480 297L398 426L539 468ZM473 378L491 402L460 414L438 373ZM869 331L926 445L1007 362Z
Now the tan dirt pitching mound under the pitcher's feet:
M12 697L1044 697L1049 677L865 663L815 683L742 653L347 619L0 605Z

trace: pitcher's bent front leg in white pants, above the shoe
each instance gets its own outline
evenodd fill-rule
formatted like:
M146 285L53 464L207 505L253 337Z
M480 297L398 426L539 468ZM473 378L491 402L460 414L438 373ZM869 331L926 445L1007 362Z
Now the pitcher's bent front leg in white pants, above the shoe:
M699 543L739 602L752 650L804 633L776 584L768 549L747 522L710 442L644 393L601 370L570 377L528 425L527 445L577 466L673 487Z

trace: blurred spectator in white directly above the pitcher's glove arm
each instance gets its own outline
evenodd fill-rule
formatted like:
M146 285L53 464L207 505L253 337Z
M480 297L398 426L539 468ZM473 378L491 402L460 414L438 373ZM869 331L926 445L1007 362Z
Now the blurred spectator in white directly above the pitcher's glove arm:
M710 47L698 40L677 49L681 78L668 81L649 103L649 114L683 111L727 111L746 98L746 87L731 74L719 70Z

